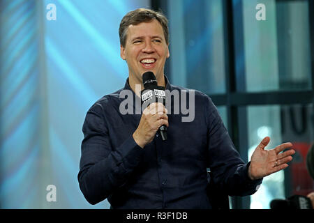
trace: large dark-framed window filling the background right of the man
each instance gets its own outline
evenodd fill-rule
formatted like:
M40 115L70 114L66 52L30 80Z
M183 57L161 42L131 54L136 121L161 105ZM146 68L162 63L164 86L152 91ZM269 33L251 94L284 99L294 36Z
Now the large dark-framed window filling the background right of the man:
M172 83L211 97L243 160L266 135L267 148L291 141L298 151L253 196L232 197L232 208L269 208L271 199L313 190L304 169L314 124L313 1L158 2L170 21ZM257 3L265 21L255 18Z

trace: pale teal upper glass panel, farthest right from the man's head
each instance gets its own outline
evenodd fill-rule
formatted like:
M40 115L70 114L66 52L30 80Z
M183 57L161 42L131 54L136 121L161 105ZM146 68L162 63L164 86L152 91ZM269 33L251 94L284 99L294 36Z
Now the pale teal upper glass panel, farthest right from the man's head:
M256 19L260 1L242 3L246 89L238 90L311 89L308 1L264 1L264 21Z

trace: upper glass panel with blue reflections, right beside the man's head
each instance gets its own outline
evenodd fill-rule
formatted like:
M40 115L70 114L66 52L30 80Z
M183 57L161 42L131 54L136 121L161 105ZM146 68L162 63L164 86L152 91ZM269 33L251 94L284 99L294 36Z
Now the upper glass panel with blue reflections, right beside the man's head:
M172 83L204 93L225 93L222 1L167 3Z

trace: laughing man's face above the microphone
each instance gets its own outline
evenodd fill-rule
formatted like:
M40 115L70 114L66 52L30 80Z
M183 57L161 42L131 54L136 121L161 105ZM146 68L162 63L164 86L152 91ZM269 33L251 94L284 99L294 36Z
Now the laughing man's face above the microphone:
M161 24L152 20L128 26L126 46L121 46L120 54L128 63L133 82L142 83L142 74L147 71L154 72L158 81L170 56Z

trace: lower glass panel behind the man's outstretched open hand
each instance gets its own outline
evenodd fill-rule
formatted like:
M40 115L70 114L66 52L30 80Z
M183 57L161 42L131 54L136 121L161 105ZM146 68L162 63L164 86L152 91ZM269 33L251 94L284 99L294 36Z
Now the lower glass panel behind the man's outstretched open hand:
M251 196L251 208L270 208L273 199L286 199L293 194L306 196L314 183L306 170L306 153L313 139L313 107L251 106L248 107L248 159L257 144L271 137L267 149L290 141L297 153L285 171L264 178L259 190Z

